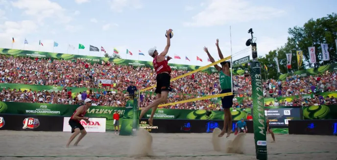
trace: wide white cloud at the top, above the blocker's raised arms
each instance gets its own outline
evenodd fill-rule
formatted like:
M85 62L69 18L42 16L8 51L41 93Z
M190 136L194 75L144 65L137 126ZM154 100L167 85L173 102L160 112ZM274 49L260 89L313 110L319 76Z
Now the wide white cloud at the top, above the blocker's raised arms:
M211 0L208 6L184 26L214 26L279 17L286 12L269 6L256 6L246 0Z

